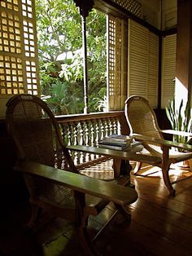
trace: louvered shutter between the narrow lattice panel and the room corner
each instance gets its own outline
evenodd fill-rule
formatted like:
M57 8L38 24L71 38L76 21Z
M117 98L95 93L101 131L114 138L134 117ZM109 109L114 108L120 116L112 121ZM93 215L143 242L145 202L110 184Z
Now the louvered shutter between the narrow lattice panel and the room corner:
M159 38L141 24L129 20L128 95L139 95L157 107Z

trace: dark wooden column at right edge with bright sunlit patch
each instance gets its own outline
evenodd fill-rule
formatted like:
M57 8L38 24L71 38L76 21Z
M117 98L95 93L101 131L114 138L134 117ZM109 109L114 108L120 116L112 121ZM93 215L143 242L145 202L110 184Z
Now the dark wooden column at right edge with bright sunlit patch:
M190 100L191 85L192 1L177 0L176 97Z

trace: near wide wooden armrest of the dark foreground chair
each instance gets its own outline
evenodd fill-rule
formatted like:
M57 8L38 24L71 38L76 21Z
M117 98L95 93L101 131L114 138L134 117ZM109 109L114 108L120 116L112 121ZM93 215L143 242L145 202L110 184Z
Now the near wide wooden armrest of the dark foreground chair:
M55 169L33 161L20 162L14 167L14 170L51 179L76 192L97 196L118 205L131 204L137 200L137 192L133 188L126 188L116 183L107 183L67 170Z

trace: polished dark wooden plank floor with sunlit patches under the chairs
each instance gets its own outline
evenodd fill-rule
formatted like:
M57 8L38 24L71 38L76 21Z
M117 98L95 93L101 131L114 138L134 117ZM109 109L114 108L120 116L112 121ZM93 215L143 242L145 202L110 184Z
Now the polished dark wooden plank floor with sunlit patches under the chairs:
M174 197L168 196L158 168L144 168L140 174L132 176L139 197L129 205L131 223L116 214L94 241L95 248L103 256L192 255L192 173L187 168L172 166L172 180L188 177L174 185L177 190ZM144 178L144 174L147 177ZM97 218L90 218L90 234L103 227L114 211L114 206L108 205ZM71 223L54 218L45 221L46 225L36 231L25 232L22 229L24 213L20 208L8 223L3 220L1 256L85 255Z

